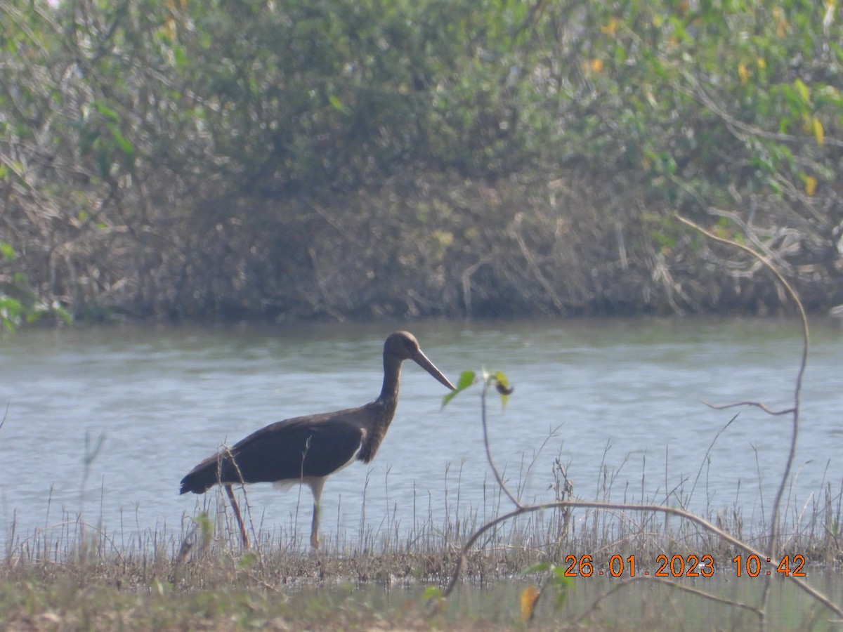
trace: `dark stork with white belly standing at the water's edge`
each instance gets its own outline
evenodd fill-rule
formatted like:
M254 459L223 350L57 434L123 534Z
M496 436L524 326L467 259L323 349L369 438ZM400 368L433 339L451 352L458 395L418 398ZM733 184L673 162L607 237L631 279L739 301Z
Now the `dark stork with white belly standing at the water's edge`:
M398 405L401 362L413 360L451 390L442 372L421 352L418 340L396 331L384 342L384 386L378 399L360 408L277 421L220 453L212 454L181 479L181 494L202 494L223 485L232 501L244 546L249 540L231 485L275 483L282 488L309 485L314 495L310 544L319 548L319 498L325 479L355 460L368 463L384 440Z

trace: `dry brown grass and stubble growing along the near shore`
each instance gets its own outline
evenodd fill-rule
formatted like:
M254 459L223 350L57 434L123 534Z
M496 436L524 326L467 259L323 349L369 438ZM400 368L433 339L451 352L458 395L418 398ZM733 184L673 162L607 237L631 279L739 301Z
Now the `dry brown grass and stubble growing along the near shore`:
M571 499L558 459L551 485L560 501ZM630 490L615 471L604 469L594 500L610 504L619 493L627 503L657 501ZM680 486L673 497L690 501L703 491ZM841 496L829 484L807 503L789 504L782 511L782 550L805 555L809 576L836 570L843 560L837 529ZM499 503L493 503L495 512L503 513ZM51 528L13 535L0 564L0 620L8 622L6 629L19 630L518 629L524 626L518 594L541 580L525 573L536 563L564 565L567 555L589 554L599 568L600 560L612 554L635 555L640 581L644 570L655 570L659 554L711 554L722 580L734 576L731 560L741 552L693 522L652 511L570 507L533 512L489 529L467 555L459 588L439 603L435 595L441 592L433 591L433 598L425 592L428 586L441 589L452 578L461 544L483 526L479 511L452 507L441 523L428 516L406 530L394 525L369 529L362 537L338 534L319 552L311 551L298 533L258 532L253 533L253 550L245 551L222 493L215 505L211 515L187 519L178 531L159 528L127 537L66 517ZM733 506L704 517L735 538L764 542L769 525L750 528L743 515L741 507ZM614 583L577 577L566 608L557 610L552 599L545 599L530 627L558 629L578 621L590 629L612 628L618 604L635 610L649 598L642 591L650 595L654 590L652 581L648 588L624 585L628 575L627 570ZM717 595L708 585L695 586ZM678 601L672 608L683 611L695 612L705 602L698 595L677 597L663 586L658 590L668 601ZM813 616L813 604L796 603L800 616ZM718 608L723 613L717 616L737 616L744 624L754 624L757 617L751 605L741 610L720 603ZM679 624L673 610L645 610L624 627ZM818 620L826 621L827 615L820 613Z

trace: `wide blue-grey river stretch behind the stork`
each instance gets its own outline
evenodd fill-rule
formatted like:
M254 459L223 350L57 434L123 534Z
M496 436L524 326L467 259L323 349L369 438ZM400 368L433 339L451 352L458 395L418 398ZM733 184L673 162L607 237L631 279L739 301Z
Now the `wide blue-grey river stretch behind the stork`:
M0 340L0 405L8 405L0 541L8 542L13 523L21 538L80 512L112 533L179 528L201 506L201 497L178 495L194 464L272 421L370 401L380 388L384 337L400 328L411 329L454 382L465 369L507 373L515 392L505 409L489 402L491 445L524 501L552 500L558 456L583 499L598 495L603 468L615 476L615 501L626 494L661 502L666 490L679 489L695 511L738 504L748 524L769 517L791 416L711 410L701 400L790 408L802 345L793 321L115 327ZM812 337L789 492L796 513L826 485L833 495L843 485L843 329L819 321ZM443 394L405 364L398 412L378 456L325 486L323 540L354 538L361 525L400 533L470 507L492 515L480 399L461 394L441 410ZM298 507L297 490L250 486L262 530L309 533L309 491Z

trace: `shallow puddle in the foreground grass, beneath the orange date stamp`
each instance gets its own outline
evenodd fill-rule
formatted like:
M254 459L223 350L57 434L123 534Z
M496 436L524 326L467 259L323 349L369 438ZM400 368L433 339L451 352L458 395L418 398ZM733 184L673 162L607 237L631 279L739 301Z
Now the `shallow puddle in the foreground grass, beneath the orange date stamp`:
M629 581L629 578L577 578L566 593L561 611L554 603L558 593L550 590L542 597L531 626L538 629L569 629L572 624L583 629L758 629L759 619L754 612L730 604L737 602L758 607L765 585L771 584L765 605L764 629L834 629L834 624L828 623L828 619L835 617L833 613L820 608L805 592L781 577L744 576L738 579L732 570L707 580L671 578L670 586L642 581L620 588L622 581ZM465 582L448 599L449 619L455 628L459 628L460 623L483 616L498 624L497 627L513 629L518 625L521 592L529 583L527 578L519 577L513 581L491 582L481 590ZM535 581L533 583L535 585ZM843 598L839 573L812 570L811 584L832 603L840 603ZM713 598L701 598L699 594L677 590L676 586ZM386 600L377 598L378 588L366 586L360 592L376 604L376 608L383 608L381 604ZM412 595L421 591L416 588L404 592ZM399 599L404 603L409 601L401 592L393 601Z

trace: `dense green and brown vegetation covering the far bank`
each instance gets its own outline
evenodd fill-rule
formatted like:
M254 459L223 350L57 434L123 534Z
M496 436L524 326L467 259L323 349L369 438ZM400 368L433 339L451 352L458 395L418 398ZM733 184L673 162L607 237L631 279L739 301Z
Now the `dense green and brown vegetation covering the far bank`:
M0 0L0 319L843 303L835 0Z

